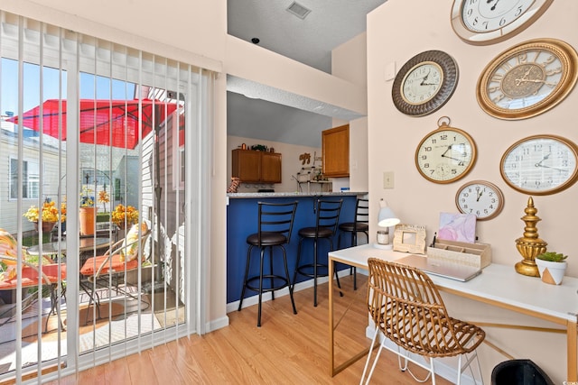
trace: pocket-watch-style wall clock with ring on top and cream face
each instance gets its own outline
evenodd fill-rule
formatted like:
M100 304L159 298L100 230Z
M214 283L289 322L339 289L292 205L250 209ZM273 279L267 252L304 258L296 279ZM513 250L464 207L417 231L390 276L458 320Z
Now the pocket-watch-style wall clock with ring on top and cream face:
M450 127L450 118L438 120L438 129L424 136L415 150L415 166L425 179L451 183L465 177L476 162L476 143L459 128Z

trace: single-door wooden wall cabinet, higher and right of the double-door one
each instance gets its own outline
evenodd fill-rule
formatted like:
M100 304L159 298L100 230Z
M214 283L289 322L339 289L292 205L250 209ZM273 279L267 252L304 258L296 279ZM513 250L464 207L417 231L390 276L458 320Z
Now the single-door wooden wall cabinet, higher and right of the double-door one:
M350 124L322 132L323 176L350 176Z

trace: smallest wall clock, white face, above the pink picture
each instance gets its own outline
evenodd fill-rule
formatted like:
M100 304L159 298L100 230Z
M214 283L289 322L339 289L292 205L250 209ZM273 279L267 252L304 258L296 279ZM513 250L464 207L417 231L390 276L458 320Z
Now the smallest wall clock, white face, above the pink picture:
M485 180L473 180L458 188L455 204L463 214L474 214L479 221L499 215L504 195L498 186Z

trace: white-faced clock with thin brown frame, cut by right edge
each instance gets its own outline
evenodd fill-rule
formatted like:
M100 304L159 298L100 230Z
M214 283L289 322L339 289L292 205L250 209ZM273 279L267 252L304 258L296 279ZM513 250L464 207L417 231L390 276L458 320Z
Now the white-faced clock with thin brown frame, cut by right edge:
M578 146L556 135L534 135L512 144L499 163L508 186L529 195L555 194L578 178Z

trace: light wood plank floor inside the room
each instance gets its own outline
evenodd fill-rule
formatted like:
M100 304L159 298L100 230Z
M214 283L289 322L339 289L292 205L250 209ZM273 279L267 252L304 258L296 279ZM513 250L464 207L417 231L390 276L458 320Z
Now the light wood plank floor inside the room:
M341 280L345 296L336 298L335 313L351 302L336 334L338 360L368 345L368 317L362 289L350 291L351 280ZM328 285L318 288L318 307L312 305L312 289L294 294L298 314L288 296L263 305L262 326L256 327L256 306L229 313L230 325L207 335L191 335L141 354L81 371L61 379L61 384L357 384L365 357L331 378L329 374ZM356 299L351 301L351 299ZM351 318L351 321L349 320ZM346 352L347 351L347 352ZM375 353L374 353L375 354ZM423 373L419 368L415 372ZM450 382L436 378L438 384ZM51 382L56 384L57 381ZM407 372L399 371L393 353L384 351L372 384L411 384ZM425 383L432 383L431 380Z

